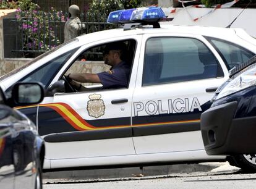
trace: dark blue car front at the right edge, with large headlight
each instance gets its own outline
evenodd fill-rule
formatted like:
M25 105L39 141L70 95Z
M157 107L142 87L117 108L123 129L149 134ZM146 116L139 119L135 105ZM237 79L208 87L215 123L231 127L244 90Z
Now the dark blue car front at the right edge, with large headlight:
M207 154L232 155L229 162L233 166L256 170L256 56L231 70L212 101L201 115Z

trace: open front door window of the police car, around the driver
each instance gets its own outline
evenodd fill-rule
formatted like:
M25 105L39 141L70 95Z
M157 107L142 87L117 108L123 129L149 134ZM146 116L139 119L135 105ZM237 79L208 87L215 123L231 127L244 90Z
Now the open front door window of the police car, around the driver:
M106 59L106 54L109 53L108 48L109 46L114 45L113 43L117 44L123 44L123 50L121 54L119 54L121 61L124 63L121 65L120 68L118 68L118 65L116 66L116 69L113 69L113 65L109 64L109 60ZM89 49L85 49L78 57L75 59L73 64L69 67L69 69L64 73L65 75L69 74L79 74L79 75L86 75L87 73L93 73L93 74L101 74L106 73L105 75L109 75L106 77L103 77L103 80L100 80L99 82L79 82L78 80L75 80L73 78L72 85L75 88L74 83L79 83L80 88L82 90L77 91L90 91L90 90L105 90L105 89L116 89L116 88L128 88L129 87L129 78L130 78L130 70L132 69L132 63L134 61L134 54L135 54L135 48L136 48L136 41L134 39L127 39L127 40L121 40L121 41L111 41L110 43L102 43L97 46L93 46ZM122 48L119 46L119 48ZM118 49L118 46L117 46ZM108 52L106 52L108 51ZM111 50L113 51L113 50ZM108 61L106 61L108 60ZM125 66L124 66L125 65ZM129 70L129 71L125 71ZM127 74L126 74L127 73ZM127 76L128 75L128 76ZM117 82L114 82L113 80L117 80ZM127 80L127 85L124 86L122 82L119 82L119 80ZM103 81L105 81L105 84L108 83L117 83L113 84L113 86L110 87L104 87ZM118 85L119 83L122 85ZM126 83L126 82L124 82ZM69 93L70 91L66 91Z

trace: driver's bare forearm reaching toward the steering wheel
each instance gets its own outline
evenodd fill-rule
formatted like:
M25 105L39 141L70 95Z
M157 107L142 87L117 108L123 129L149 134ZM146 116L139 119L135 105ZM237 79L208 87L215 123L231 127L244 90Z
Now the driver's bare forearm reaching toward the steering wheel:
M100 78L95 73L70 73L68 77L81 83L101 83Z

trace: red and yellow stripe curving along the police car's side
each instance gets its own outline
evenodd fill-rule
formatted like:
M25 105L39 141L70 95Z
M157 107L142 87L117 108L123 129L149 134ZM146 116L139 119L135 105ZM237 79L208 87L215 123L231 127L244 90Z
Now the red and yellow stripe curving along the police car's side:
M23 107L16 107L16 109L23 109L28 107L36 107L37 105L33 106L23 106ZM111 128L125 128L131 127L131 125L115 125L115 126L106 126L106 127L95 127L89 124L86 120L84 120L77 112L75 112L72 107L70 107L66 103L49 103L49 104L39 104L38 106L41 107L49 107L54 109L54 111L58 112L67 122L69 122L72 127L77 130L103 130L103 129L111 129ZM156 123L149 123L149 124L135 124L132 127L147 127L151 125L171 125L171 124L186 124L186 123L197 123L200 122L200 119L195 120L182 120L182 121L172 121L172 122L156 122Z

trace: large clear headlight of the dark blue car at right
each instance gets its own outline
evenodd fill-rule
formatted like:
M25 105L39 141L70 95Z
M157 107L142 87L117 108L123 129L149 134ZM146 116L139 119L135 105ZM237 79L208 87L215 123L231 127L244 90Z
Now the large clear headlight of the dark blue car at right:
M216 96L216 99L254 85L256 85L256 64L250 65L234 75L233 79L231 78L231 80L222 88L218 96Z

